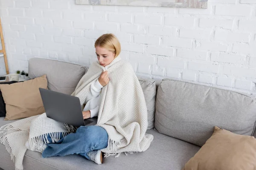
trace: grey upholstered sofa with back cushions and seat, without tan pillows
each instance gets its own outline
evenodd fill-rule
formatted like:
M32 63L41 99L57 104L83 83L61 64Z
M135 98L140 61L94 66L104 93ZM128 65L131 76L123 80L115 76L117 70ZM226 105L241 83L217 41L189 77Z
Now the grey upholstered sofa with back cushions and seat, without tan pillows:
M48 88L66 94L73 92L86 71L87 68L66 62L29 60L30 78L47 74ZM147 133L154 136L148 150L118 158L110 156L101 165L78 155L44 159L41 153L27 150L24 170L181 170L209 139L214 126L255 136L254 96L173 79L157 82L138 78L148 108ZM3 119L0 118L0 126L12 122ZM2 144L0 168L15 170Z

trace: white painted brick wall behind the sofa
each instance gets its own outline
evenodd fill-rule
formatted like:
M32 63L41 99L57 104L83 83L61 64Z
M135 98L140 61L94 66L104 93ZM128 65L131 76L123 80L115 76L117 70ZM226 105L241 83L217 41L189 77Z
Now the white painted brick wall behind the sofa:
M208 9L0 0L10 71L32 57L90 65L112 32L137 74L256 94L256 0L209 0Z

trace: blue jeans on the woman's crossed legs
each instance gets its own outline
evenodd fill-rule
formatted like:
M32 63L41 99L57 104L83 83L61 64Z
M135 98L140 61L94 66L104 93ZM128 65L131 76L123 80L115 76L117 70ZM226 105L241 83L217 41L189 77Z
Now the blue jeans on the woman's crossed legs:
M49 142L51 138L47 136ZM47 148L42 153L43 158L50 156L66 156L79 154L86 159L90 158L87 153L92 150L101 150L108 146L108 133L99 126L80 126L76 133L64 136L56 143L47 144Z

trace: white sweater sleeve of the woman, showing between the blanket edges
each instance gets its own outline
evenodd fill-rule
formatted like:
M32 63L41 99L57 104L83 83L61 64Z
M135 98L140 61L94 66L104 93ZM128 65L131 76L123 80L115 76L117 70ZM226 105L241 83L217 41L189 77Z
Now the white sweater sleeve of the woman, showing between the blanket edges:
M90 117L98 116L99 104L100 104L100 94L103 86L99 83L99 79L92 83L90 86L90 91L87 94L85 100L85 107L83 111L90 111Z

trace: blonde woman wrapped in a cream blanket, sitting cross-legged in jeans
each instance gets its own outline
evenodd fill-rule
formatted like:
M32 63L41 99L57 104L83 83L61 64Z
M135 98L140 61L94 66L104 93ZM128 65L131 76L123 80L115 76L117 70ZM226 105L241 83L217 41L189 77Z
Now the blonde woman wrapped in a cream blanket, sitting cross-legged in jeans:
M140 83L129 63L120 59L121 46L113 34L95 42L93 63L72 95L79 97L84 119L98 116L97 125L81 126L76 133L47 144L43 157L79 154L102 164L108 155L145 151L153 140L145 134L147 110ZM106 71L108 69L108 71ZM128 85L128 87L126 87Z

